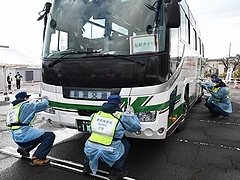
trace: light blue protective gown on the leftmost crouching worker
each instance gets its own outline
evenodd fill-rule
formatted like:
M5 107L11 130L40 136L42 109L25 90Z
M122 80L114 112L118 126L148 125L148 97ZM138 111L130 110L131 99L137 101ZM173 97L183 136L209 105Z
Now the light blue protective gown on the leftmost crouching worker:
M13 101L14 102L14 101ZM14 104L14 103L13 103ZM20 108L19 122L29 124L32 122L36 113L44 111L48 107L48 101L44 99L38 103L27 102ZM16 143L25 143L32 141L44 134L43 129L37 129L32 126L21 126L17 130L11 130L13 140Z

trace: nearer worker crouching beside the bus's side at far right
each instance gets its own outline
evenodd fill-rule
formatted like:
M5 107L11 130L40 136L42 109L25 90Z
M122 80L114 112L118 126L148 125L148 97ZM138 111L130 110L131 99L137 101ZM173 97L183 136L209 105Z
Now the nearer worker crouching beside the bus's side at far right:
M211 113L210 116L223 116L224 119L228 119L229 114L232 113L229 89L220 78L215 78L212 82L215 83L215 86L212 88L205 86L205 89L211 94L207 99L205 106L209 109Z

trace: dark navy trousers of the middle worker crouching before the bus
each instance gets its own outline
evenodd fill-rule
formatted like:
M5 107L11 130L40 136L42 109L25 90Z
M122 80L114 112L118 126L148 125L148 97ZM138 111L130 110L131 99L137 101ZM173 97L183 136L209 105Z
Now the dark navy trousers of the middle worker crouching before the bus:
M122 171L124 162L125 162L125 160L126 160L126 158L127 158L128 151L129 151L129 149L130 149L130 143L129 143L128 140L126 140L126 139L121 139L121 141L122 141L122 143L123 143L123 145L124 145L124 149L125 149L124 154L123 154L123 155L121 156L121 158L118 159L118 160L113 164L113 166L112 166L112 168L117 169L117 170L119 170L119 171ZM99 159L99 161L100 161L100 163L102 163L102 161L101 161L100 159ZM88 159L87 156L86 156L85 159L84 159L84 164L87 164L87 163L89 163L89 159Z

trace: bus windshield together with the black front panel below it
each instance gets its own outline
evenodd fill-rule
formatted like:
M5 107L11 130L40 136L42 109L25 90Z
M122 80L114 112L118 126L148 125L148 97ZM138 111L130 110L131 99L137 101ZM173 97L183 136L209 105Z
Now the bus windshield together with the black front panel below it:
M43 82L81 88L166 82L164 5L154 0L53 0L44 39Z

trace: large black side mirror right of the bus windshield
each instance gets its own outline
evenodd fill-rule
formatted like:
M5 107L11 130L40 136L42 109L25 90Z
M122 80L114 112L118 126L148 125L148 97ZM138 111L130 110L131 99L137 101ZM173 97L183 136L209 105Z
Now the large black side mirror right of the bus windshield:
M179 0L166 0L169 2L166 7L167 13L167 28L178 28L180 26L180 6Z

